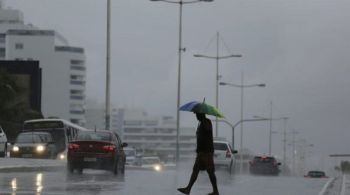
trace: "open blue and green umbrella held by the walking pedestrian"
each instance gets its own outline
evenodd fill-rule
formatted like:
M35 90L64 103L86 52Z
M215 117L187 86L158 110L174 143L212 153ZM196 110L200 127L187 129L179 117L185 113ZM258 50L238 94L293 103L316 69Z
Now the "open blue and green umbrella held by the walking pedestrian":
M206 104L205 102L197 102L197 101L189 102L181 106L180 110L194 112L194 113L208 114L219 118L224 118L224 115L217 108L209 104Z

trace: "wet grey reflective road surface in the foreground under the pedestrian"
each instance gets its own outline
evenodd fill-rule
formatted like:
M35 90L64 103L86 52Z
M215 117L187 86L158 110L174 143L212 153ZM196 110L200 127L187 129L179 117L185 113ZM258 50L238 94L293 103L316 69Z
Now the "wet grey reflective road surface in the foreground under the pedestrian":
M0 173L0 194L87 194L87 195L178 195L177 187L187 183L190 171L127 170L125 176L84 170L82 175L54 172ZM327 179L297 177L253 177L217 171L222 195L317 195ZM201 173L192 195L211 192L206 173Z

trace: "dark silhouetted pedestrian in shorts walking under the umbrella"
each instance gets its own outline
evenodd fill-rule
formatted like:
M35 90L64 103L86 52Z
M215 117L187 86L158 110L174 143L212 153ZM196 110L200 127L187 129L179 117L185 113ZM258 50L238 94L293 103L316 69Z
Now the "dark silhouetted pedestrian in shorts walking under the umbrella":
M211 121L205 117L205 114L196 113L196 117L199 121L197 128L197 157L193 165L193 171L190 181L185 188L178 188L177 190L184 193L190 194L193 184L196 182L199 171L206 170L213 192L209 195L219 195L214 166L214 143L213 143L213 127Z

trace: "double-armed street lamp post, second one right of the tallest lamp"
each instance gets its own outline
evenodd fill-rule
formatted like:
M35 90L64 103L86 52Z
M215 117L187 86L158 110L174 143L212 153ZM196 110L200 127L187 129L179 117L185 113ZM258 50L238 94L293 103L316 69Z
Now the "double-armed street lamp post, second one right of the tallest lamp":
M244 79L243 79L243 72L242 72L242 82L241 85L236 85L236 84L232 84L232 83L226 83L226 82L220 82L220 85L228 85L228 86L232 86L232 87L239 87L241 88L241 121L243 120L243 97L244 97L244 88L249 88L249 87L266 87L266 84L252 84L252 85L244 85ZM266 119L263 119L266 120ZM241 125L241 137L240 137L240 154L241 154L241 165L240 165L240 172L242 173L242 167L243 167L243 161L242 161L242 151L243 151L243 123L240 123Z

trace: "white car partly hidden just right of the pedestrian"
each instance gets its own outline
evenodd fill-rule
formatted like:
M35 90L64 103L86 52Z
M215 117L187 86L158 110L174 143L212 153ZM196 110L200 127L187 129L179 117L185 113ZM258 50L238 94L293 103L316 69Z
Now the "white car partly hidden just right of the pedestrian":
M233 150L230 143L225 140L214 139L214 164L215 167L225 167L232 173L236 165L235 155L237 151Z

